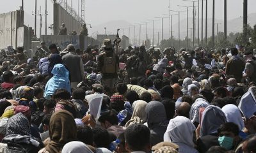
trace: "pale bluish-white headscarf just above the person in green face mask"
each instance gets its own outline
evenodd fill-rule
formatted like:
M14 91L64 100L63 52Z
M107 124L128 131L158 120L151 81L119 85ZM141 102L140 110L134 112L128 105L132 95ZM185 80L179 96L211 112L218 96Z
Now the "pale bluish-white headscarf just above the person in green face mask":
M227 122L234 122L234 124L237 124L240 130L244 128L242 115L236 105L228 104L223 106L221 110L225 113Z

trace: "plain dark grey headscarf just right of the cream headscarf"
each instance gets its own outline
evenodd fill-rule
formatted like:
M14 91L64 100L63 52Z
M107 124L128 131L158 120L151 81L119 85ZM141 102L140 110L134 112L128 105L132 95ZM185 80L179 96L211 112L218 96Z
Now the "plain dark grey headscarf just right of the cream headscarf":
M145 114L149 129L167 120L164 105L159 101L150 101L145 108Z

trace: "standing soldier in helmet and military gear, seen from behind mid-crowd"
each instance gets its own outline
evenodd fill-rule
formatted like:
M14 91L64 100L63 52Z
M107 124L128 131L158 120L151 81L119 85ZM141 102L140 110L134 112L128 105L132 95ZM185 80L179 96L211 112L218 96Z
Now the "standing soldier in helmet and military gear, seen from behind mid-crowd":
M102 73L102 85L109 87L111 92L115 92L115 83L118 79L117 72L119 71L119 58L113 52L111 40L103 41L103 54L98 56L97 69Z

